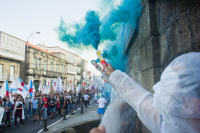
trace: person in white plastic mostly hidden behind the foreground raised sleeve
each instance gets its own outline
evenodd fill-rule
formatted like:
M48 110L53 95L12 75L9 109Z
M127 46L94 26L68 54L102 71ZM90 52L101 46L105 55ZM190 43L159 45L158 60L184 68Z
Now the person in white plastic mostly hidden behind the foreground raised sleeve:
M101 67L99 65L95 67L110 84ZM100 125L105 126L108 133L136 133L135 118L137 114L135 110L116 91L112 98Z

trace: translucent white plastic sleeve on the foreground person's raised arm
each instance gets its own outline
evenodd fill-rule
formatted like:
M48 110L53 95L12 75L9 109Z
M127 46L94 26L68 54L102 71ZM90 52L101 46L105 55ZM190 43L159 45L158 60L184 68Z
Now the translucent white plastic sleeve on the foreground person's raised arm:
M142 123L153 133L160 133L160 114L153 107L153 95L131 79L116 70L109 81L124 100L137 112Z

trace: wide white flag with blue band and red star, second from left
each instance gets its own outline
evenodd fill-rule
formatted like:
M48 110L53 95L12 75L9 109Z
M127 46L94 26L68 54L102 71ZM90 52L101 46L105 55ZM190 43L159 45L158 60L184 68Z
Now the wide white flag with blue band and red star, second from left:
M27 90L28 87L24 84L24 82L20 81L19 78L13 79L10 85L10 91L12 91L12 94L21 94L22 97L25 99L28 93Z

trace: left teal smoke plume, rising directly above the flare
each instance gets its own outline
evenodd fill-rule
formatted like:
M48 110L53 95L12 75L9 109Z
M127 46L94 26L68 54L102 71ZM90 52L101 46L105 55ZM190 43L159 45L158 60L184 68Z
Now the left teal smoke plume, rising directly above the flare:
M67 25L61 19L59 27L56 28L59 40L66 42L72 48L92 45L97 49L100 42L99 26L101 24L98 14L95 11L88 11L85 22L83 26L82 24ZM71 29L74 31L72 32Z

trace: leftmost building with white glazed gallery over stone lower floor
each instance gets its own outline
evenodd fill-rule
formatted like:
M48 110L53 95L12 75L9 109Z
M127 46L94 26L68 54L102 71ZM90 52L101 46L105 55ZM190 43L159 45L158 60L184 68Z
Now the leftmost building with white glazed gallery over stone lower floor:
M5 79L11 83L20 77L21 62L24 62L25 41L0 31L0 87Z

